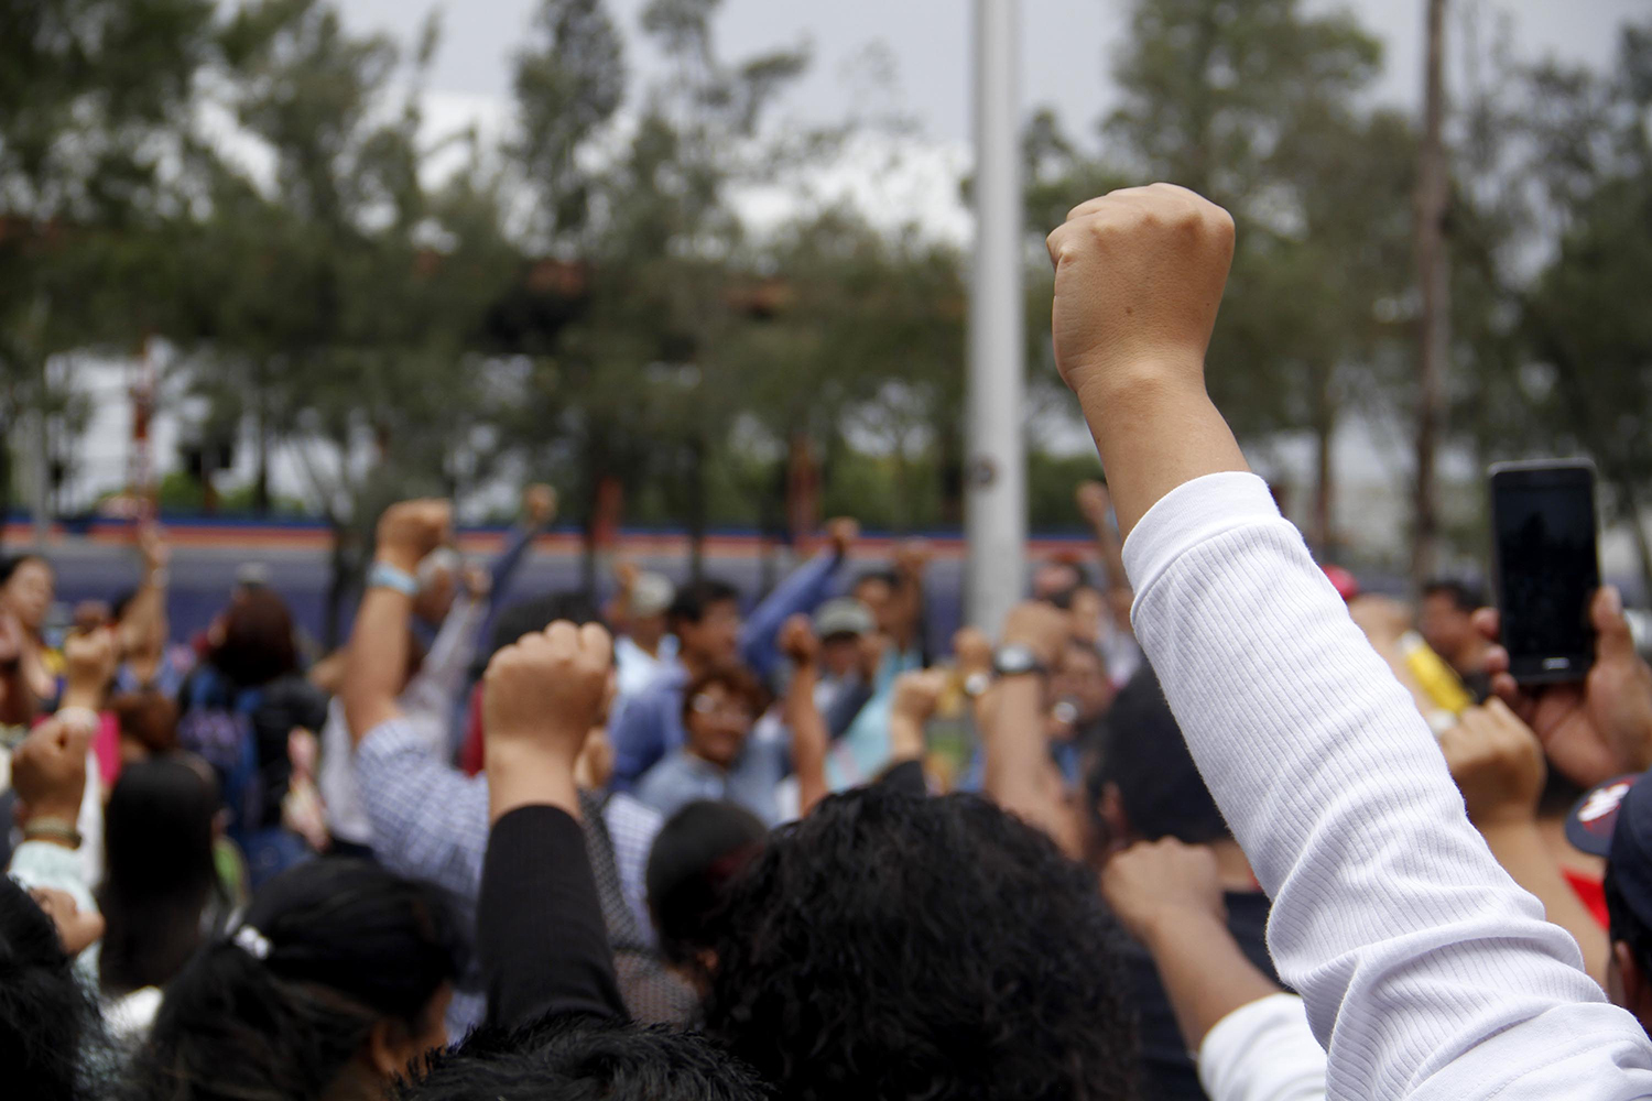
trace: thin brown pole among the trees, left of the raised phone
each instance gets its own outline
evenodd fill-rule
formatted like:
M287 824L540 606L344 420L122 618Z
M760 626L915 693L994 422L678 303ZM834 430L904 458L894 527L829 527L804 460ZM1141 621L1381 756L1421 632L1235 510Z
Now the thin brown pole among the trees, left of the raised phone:
M1421 586L1439 566L1439 512L1434 452L1446 421L1444 375L1450 360L1450 262L1446 253L1446 208L1450 170L1446 163L1446 0L1427 0L1427 66L1422 87L1422 147L1417 163L1417 484L1411 581Z

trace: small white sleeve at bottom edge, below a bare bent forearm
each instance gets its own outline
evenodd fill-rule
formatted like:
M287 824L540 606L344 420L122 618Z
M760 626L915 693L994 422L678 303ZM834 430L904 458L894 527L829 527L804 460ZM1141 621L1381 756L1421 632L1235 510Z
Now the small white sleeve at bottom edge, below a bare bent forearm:
M1199 1045L1211 1101L1325 1101L1325 1048L1295 994L1275 994L1216 1022Z

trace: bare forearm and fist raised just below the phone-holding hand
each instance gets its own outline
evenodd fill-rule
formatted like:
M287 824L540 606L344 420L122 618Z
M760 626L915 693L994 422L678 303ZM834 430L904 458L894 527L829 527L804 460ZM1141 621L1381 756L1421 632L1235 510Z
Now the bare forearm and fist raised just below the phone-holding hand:
M1538 832L1543 794L1543 744L1502 700L1464 711L1441 736L1441 751L1462 792L1469 820L1480 830L1497 863L1531 891L1548 919L1571 933L1589 977L1606 987L1611 944L1606 929L1566 883Z

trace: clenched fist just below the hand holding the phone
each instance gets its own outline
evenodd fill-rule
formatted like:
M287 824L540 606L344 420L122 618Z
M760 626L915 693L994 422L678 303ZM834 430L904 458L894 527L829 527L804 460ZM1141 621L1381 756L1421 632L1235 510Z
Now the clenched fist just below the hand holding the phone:
M1543 743L1502 700L1472 706L1441 736L1469 820L1485 829L1536 820L1548 774Z

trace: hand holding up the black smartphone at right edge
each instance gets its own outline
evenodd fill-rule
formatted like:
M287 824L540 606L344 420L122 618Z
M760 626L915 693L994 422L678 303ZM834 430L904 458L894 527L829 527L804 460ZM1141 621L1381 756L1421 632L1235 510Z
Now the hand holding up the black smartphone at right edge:
M1583 683L1521 688L1508 675L1508 650L1493 645L1485 659L1492 692L1536 731L1550 763L1586 787L1652 766L1652 669L1635 652L1617 589L1596 593L1589 617L1594 667ZM1475 612L1488 640L1500 626L1495 609Z

